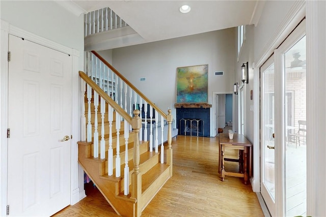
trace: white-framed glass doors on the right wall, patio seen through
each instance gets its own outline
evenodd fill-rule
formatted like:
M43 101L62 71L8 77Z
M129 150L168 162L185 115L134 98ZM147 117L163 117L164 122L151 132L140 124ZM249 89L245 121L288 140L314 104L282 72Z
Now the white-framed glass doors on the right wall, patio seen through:
M260 72L261 194L272 216L305 216L305 20L275 50Z

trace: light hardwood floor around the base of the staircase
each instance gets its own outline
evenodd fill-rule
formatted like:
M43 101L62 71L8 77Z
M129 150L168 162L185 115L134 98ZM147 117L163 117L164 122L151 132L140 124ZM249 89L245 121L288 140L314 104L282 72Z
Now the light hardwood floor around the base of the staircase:
M218 173L218 137L178 136L172 140L173 176L142 216L264 216L243 178ZM231 150L233 151L233 150ZM236 152L226 155L236 156ZM233 170L237 163L227 162ZM118 216L97 191L53 216Z

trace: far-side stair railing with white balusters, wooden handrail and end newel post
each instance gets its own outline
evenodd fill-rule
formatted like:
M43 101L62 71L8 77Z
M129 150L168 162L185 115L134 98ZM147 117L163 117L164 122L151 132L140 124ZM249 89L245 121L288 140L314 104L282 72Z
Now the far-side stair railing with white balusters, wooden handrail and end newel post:
M150 121L150 123L155 122L155 129L147 129L145 124L144 130L140 131L140 140L147 141L149 137L150 151L155 149L158 152L158 144L161 145L161 163L164 161L164 141L158 141L156 133L155 138L153 138L153 130L157 132L157 123L164 119L168 123L168 150L167 154L167 164L172 165L173 150L172 150L172 121L173 117L171 114L171 109L168 110L168 114L164 113L157 105L155 105L151 100L149 100L138 88L131 84L121 73L118 72L111 64L109 64L101 55L96 51L85 52L85 69L89 77L96 81L96 84L102 87L103 90L107 92L108 95L115 98L115 102L120 104L121 108L127 112L129 109L129 115L132 116L132 100L133 105L139 105L139 110L141 111L140 117L144 122ZM106 87L105 87L106 86ZM110 88L111 87L111 88ZM120 90L120 93L119 91ZM128 92L129 91L129 92ZM129 99L127 99L129 97ZM133 98L133 99L132 99ZM129 104L129 106L128 106ZM149 105L149 106L148 106ZM149 107L149 108L148 108ZM154 111L153 111L154 110ZM149 114L148 114L149 113ZM159 119L159 115L160 119ZM155 116L155 117L153 117ZM148 132L149 131L149 132ZM143 133L144 132L144 133ZM149 134L149 136L148 136ZM161 131L161 138L163 138L163 131ZM173 170L170 168L170 175L172 176Z

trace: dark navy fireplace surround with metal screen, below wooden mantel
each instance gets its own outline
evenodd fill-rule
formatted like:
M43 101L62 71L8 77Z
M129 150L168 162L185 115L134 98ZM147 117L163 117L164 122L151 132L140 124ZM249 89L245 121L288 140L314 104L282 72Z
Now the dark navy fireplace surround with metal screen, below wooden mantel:
M209 108L176 108L178 135L209 137Z

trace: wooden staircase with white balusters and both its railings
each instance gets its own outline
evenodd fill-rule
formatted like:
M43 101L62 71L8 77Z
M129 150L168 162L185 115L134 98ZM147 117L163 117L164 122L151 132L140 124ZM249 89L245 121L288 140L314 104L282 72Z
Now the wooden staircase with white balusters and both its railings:
M95 57L90 59L95 60ZM127 85L126 79L102 60L96 59L96 63L103 63L104 72L108 72L104 67L108 65L106 67L112 72L111 76L107 74L106 81L105 75L97 72L94 75L92 70L89 70L89 75L79 72L86 88L83 90L85 117L82 117L82 132L85 135L82 135L83 141L78 142L78 162L117 214L141 216L142 210L172 176L171 110L166 115L143 94L138 96L139 90L131 84ZM92 63L89 62L86 69L93 69L90 65ZM121 94L117 91L119 88ZM127 97L130 99L127 100ZM155 138L144 141L143 136L147 138L147 135L140 132L142 121L147 122L147 115L142 117L142 106L140 110L132 110L131 102L134 105L143 105L144 102L145 110L147 103L150 104L156 114L154 119L150 116L151 122L159 121L159 113L162 113L161 121L168 121L168 146L161 144L160 152L157 139L155 151L152 144ZM160 158L162 154L166 154L166 161Z

